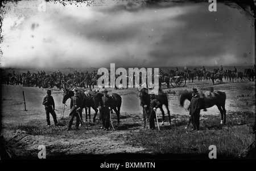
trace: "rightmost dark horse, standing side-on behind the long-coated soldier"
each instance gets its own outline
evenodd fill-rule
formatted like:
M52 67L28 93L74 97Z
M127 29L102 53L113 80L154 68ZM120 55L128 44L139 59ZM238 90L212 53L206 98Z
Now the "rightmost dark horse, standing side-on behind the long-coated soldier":
M202 93L199 92L199 97L204 99L204 105L202 106L202 109L210 108L214 105L218 107L218 110L220 110L221 113L221 124L226 123L226 109L225 109L225 102L226 102L226 93L222 91L213 91L210 93ZM192 92L189 92L187 90L183 91L179 95L180 100L180 106L184 106L185 100L191 101L192 99Z

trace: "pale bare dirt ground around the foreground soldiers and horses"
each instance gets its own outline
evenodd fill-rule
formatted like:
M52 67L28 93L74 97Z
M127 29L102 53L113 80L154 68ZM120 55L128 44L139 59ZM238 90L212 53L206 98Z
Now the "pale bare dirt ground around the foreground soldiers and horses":
M226 111L227 118L231 112L251 112L255 113L255 82L243 81L229 83L224 80L224 83L216 83L214 86L208 80L203 80L198 83L187 83L185 87L164 88L164 92L168 93L169 109L172 116L172 124L176 124L181 120L188 120L188 111L179 106L178 94L181 90L197 88L199 91L208 91L210 87L214 90L224 91L226 93ZM26 100L26 111L24 110L24 97ZM118 153L151 153L143 147L135 147L133 144L126 142L126 134L137 132L143 129L142 108L139 106L137 97L137 89L110 89L110 93L118 93L122 96L121 108L121 123L115 126L115 131L108 132L100 129L101 123L85 122L85 126L80 127L80 130L66 131L67 125L61 127L47 128L46 114L42 105L43 97L46 96L46 89L38 87L22 87L22 86L7 86L2 84L1 97L1 115L2 115L2 130L3 135L11 155L21 159L32 158L38 159L39 146L46 147L47 157L51 156L68 156L68 155L109 155ZM57 117L61 117L63 112L63 90L57 88L52 89L52 96L55 100ZM69 106L69 101L67 105ZM189 105L189 101L185 101L185 107ZM68 107L69 108L69 107ZM69 121L69 110L65 107L64 118L67 123ZM166 112L166 108L164 108ZM94 110L91 109L92 117ZM207 115L219 115L216 106L209 108L207 112L201 112L201 120L207 118ZM162 115L158 110L159 122L162 122ZM85 112L83 112L83 120L85 121ZM51 123L53 125L52 116ZM98 116L97 116L98 119ZM117 121L115 113L112 115L114 123ZM221 117L220 117L221 119ZM64 123L63 120L59 120ZM166 114L165 125L168 126L168 116ZM73 122L75 124L75 120ZM27 134L19 127L34 126L39 130L46 132L59 131L60 134L47 135ZM74 128L75 125L72 126ZM32 127L33 128L33 127ZM47 130L48 129L48 130ZM14 155L15 154L15 155Z

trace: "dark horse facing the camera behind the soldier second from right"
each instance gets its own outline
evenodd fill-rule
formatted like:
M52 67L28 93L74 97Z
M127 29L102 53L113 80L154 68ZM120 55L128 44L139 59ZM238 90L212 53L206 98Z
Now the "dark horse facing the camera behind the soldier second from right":
M150 95L148 94L148 89L147 88L142 88L138 89L139 91L139 99L141 100L141 106L143 108L143 119L144 119L144 127L146 127L146 116L148 116L149 108L150 108ZM162 125L164 125L164 110L163 110L163 105L166 106L167 112L168 112L168 117L169 117L169 122L171 125L171 116L170 116L170 110L168 108L168 97L166 93L158 93L158 95L155 95L155 98L158 99L160 102L160 110L162 112L163 116L163 122ZM147 106L145 106L147 105Z

